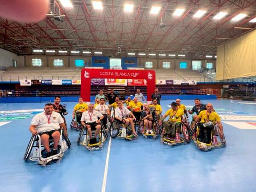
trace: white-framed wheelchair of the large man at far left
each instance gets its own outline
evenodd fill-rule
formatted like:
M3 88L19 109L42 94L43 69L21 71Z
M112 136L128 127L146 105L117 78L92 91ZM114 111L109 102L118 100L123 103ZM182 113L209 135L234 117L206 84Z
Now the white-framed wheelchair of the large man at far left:
M53 148L53 138L49 137L49 147ZM44 148L44 145L41 144L41 137L39 134L32 135L32 137L29 140L29 144L26 148L26 152L24 154L23 160L27 161L37 161L39 165L46 166L49 165L52 162L56 162L61 160L61 157L63 157L64 152L67 151L68 148L70 148L71 143L65 132L61 129L61 136L58 144L59 153L52 155L51 157L44 157L46 155L46 150ZM32 155L32 149L34 149Z

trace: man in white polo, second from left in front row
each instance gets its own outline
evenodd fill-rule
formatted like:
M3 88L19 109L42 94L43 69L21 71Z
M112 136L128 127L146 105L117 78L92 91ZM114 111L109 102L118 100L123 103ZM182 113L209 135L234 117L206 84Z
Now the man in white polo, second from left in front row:
M89 104L88 111L85 111L81 117L81 124L83 126L86 126L87 131L89 133L90 144L97 143L96 138L101 128L101 125L99 124L99 122L100 120L103 119L102 113L99 113L99 111L94 111L93 109L94 109L94 105ZM94 131L96 130L94 137L91 130L94 130Z

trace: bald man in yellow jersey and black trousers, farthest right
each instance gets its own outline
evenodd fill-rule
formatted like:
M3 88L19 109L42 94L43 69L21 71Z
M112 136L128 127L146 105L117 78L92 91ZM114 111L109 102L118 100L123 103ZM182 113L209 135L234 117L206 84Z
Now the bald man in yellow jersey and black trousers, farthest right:
M199 141L203 143L211 142L211 130L214 128L213 126L215 125L215 123L218 124L221 135L223 136L223 126L221 123L221 118L218 116L218 113L213 111L213 105L211 103L207 103L206 110L201 111L198 117L201 119L199 123Z

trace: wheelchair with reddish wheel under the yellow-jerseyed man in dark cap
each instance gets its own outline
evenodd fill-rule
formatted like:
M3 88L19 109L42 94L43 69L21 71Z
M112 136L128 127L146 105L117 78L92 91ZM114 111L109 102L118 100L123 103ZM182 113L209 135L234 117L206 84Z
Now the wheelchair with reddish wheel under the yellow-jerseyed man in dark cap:
M189 119L187 116L182 117L179 127L175 130L175 139L171 140L165 136L165 128L163 127L161 131L161 143L167 145L176 144L188 144L190 143L189 135Z

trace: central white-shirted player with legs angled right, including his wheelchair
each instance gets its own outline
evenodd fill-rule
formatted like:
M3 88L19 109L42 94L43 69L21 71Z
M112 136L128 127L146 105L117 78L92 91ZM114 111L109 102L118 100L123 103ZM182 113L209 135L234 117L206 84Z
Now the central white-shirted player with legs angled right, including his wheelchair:
M118 102L118 107L114 113L115 120L110 126L110 136L112 138L122 137L125 140L132 140L134 137L137 137L134 126L136 118L131 111L122 105L121 101Z

